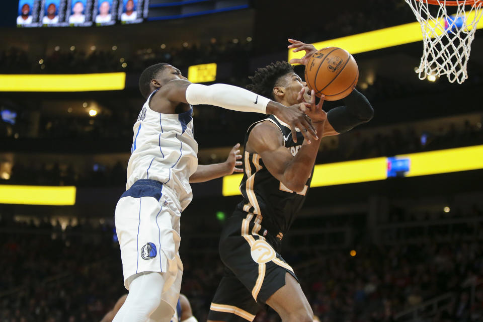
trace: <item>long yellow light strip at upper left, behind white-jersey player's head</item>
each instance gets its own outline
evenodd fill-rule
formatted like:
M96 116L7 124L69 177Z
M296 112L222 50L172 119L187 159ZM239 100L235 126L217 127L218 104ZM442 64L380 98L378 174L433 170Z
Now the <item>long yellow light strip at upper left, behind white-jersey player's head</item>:
M0 74L0 92L120 91L125 72L95 74Z

